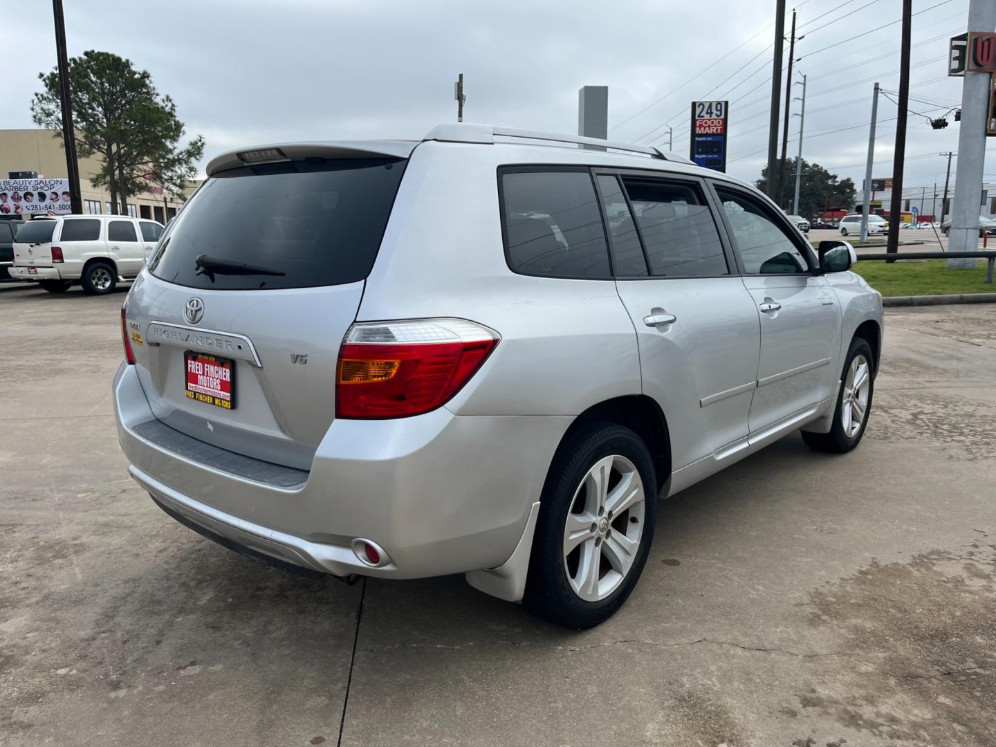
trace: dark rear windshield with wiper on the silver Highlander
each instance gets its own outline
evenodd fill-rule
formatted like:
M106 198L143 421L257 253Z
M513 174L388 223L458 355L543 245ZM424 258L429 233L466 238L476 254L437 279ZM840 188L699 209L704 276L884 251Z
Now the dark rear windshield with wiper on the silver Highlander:
M363 280L404 163L315 159L216 174L170 223L150 271L170 283L217 290Z

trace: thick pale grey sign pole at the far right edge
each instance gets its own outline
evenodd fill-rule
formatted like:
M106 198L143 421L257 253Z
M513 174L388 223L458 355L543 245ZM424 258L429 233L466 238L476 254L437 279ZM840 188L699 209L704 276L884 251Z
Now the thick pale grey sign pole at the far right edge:
M996 3L969 0L968 32L996 29ZM989 73L970 73L973 50L961 84L961 127L958 131L958 170L954 175L954 204L947 248L952 252L975 251L979 246L982 171L986 157L986 129L989 119ZM974 259L948 259L950 268L975 267Z

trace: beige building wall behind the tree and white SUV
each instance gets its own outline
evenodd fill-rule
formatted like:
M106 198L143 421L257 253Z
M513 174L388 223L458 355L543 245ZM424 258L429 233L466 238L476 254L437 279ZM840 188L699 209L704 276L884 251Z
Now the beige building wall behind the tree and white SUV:
M96 158L80 158L80 191L84 212L109 213L111 192L96 188L91 179L99 170ZM62 133L54 129L0 129L0 178L6 179L9 171L37 171L49 179L66 178L66 151L62 146ZM187 188L192 193L199 182ZM142 192L128 197L134 205L134 214L165 223L176 214L182 202L166 199L161 194Z

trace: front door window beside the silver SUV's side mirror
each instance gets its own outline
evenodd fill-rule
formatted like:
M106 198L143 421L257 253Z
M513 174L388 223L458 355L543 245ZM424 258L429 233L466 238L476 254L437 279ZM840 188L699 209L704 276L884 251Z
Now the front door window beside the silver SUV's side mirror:
M806 272L808 265L786 229L751 197L717 187L736 250L750 274Z

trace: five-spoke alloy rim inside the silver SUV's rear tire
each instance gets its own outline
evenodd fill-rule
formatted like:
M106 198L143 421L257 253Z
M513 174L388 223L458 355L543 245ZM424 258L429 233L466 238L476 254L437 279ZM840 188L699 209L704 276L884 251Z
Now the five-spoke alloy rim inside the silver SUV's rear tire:
M626 578L643 538L643 482L631 461L599 459L582 478L564 527L568 583L585 602L600 602Z

